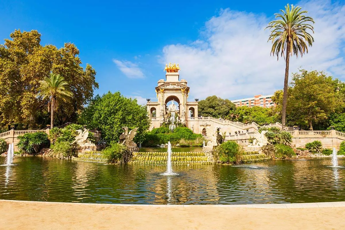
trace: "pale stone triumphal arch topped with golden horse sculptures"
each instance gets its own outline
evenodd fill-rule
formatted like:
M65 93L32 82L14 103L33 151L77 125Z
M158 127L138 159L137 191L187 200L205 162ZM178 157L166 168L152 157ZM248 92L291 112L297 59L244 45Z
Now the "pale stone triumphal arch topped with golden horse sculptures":
M180 80L179 70L178 64L166 64L164 69L166 71L165 80L160 79L156 87L158 101L147 102L147 112L151 118L150 130L160 127L167 121L169 104L177 102L177 120L197 132L197 130L194 130L196 124L193 124L194 122L191 120L198 117L198 102L188 101L189 87L186 80Z

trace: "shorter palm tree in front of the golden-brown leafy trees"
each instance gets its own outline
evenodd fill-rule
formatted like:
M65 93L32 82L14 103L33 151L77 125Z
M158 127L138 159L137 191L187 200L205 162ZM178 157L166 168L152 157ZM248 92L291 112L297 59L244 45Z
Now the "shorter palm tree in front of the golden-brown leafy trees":
M54 127L54 112L58 108L59 101L67 101L73 93L66 89L68 83L60 74L50 73L43 81L40 81L39 93L42 99L49 99L48 112L50 112L50 128Z

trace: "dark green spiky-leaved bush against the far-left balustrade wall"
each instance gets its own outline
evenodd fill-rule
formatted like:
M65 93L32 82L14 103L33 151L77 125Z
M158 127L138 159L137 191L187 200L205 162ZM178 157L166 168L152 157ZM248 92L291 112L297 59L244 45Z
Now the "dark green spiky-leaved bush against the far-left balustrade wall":
M43 146L49 143L45 132L26 133L18 136L18 149L26 153L38 153Z

